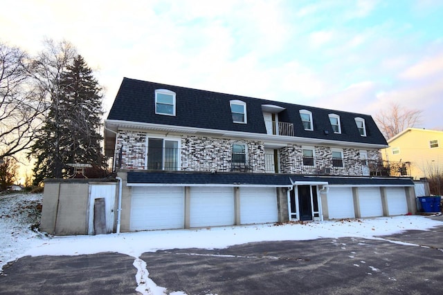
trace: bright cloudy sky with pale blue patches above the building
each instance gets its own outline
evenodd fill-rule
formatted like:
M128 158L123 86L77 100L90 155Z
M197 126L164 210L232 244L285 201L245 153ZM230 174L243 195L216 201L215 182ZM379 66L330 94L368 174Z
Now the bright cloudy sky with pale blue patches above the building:
M0 41L70 41L109 111L123 77L443 129L443 1L4 1Z

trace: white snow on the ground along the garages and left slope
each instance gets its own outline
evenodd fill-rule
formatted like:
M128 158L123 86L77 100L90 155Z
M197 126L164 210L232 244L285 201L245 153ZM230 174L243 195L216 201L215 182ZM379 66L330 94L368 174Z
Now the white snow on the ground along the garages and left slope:
M138 262L140 267L136 266L138 257L143 252L158 249L220 249L246 242L272 240L376 238L376 236L396 234L408 229L428 230L432 227L443 226L443 222L424 216L396 216L361 220L289 222L283 225L208 227L51 238L30 229L30 225L35 223L35 220L29 217L30 212L26 210L41 200L41 194L0 195L0 267L3 267L8 261L26 255L80 255L113 251L136 258L134 266L139 272L137 276L143 276L146 279L149 273L143 266L143 261ZM144 271L147 274L143 274ZM141 287L143 286L139 284L137 290L141 290ZM151 281L145 287L153 290L157 286ZM161 290L154 292L154 294L157 293L162 294Z

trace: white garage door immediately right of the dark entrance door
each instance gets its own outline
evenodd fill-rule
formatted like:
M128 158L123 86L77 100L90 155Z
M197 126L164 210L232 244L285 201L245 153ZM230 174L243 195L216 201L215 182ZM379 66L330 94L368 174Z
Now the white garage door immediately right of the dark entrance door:
M350 187L330 187L327 193L329 219L354 218L354 199Z

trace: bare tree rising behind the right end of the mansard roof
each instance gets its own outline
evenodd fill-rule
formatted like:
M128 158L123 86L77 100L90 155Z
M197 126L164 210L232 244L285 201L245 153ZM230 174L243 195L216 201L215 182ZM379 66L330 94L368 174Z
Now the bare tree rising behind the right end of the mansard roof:
M381 133L389 139L409 127L415 127L422 120L422 111L400 106L398 103L390 103L384 111L380 111L374 117Z

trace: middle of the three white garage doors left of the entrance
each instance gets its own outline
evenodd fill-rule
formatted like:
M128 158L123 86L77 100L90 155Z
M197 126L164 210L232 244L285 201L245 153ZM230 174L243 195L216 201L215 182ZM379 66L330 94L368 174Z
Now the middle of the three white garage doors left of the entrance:
M233 224L233 187L190 188L190 227Z

